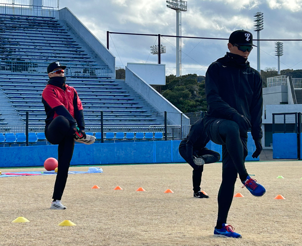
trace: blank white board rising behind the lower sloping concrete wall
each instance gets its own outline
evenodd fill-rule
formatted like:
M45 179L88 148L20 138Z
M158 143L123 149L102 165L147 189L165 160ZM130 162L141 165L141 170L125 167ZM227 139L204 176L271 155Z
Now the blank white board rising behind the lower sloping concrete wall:
M165 64L127 63L127 67L149 85L166 84Z

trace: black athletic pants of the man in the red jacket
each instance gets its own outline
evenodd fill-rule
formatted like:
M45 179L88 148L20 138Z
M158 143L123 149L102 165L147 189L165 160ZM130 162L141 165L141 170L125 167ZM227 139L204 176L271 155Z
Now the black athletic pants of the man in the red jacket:
M45 128L45 136L51 144L58 145L58 173L56 175L53 199L61 200L66 185L68 169L75 145L73 132L70 131L70 124L67 118L57 116Z

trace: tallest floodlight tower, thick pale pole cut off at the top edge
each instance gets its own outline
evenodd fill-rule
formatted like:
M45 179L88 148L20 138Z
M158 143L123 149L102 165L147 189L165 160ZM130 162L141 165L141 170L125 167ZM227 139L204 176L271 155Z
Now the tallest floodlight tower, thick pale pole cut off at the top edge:
M167 0L167 7L176 10L176 36L182 36L182 11L187 11L187 2ZM182 75L182 38L176 38L176 77Z

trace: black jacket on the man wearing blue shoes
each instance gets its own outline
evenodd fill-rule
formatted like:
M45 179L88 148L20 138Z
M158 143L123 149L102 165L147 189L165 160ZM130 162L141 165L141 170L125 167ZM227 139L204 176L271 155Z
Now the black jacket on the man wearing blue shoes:
M232 120L239 113L250 121L253 139L262 138L262 79L245 58L227 52L213 62L206 73L205 93L205 124L215 118Z

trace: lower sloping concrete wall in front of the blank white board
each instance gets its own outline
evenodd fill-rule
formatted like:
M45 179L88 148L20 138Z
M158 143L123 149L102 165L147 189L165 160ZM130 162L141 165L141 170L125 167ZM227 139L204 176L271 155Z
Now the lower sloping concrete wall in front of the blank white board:
M165 99L161 94L153 89L146 81L140 76L126 67L126 79L125 82L130 85L137 93L148 101L158 112L167 112L167 121L169 125L190 125L190 119L182 114L182 112L176 108L172 103Z

